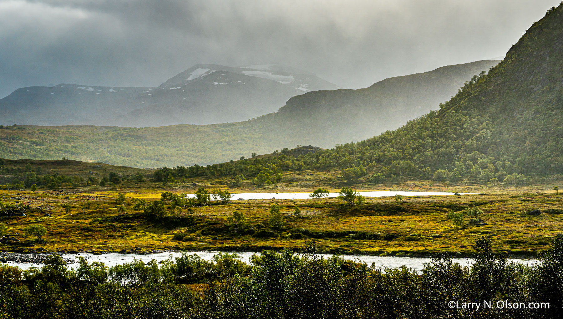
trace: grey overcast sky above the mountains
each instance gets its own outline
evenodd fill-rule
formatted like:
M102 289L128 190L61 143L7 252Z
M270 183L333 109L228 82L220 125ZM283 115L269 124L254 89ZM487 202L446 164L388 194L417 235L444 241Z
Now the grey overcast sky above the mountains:
M0 97L278 62L344 88L504 56L560 0L0 0Z

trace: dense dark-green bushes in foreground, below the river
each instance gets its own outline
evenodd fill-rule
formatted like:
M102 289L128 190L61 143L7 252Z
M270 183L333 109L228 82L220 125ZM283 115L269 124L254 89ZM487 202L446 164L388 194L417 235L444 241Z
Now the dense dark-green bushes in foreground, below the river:
M0 318L560 317L563 235L531 267L507 261L487 238L473 248L471 267L436 256L420 273L326 259L314 253L314 244L305 256L263 251L251 265L233 254L212 261L184 254L160 267L156 261L108 268L81 260L69 270L53 256L38 270L0 267ZM484 300L493 307L532 303L544 309L489 309ZM449 302L481 306L452 309Z

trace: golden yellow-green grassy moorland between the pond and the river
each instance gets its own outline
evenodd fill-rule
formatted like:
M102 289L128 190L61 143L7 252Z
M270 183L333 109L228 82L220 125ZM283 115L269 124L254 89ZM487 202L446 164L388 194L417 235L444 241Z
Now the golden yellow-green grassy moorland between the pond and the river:
M548 247L549 241L563 231L563 215L542 213L531 216L532 209L562 209L558 193L524 194L520 189L505 189L504 194L405 197L402 203L395 198L368 198L359 208L349 208L335 198L304 200L235 200L229 204L194 207L193 217L184 209L178 217L168 216L164 222L149 221L141 211L132 210L132 198L158 199L155 190L128 192L127 213L117 212L117 192L68 192L68 191L3 191L3 202L30 205L28 217L1 217L8 233L20 240L0 245L2 250L43 247L56 250L91 250L92 252L119 251L141 248L142 250L189 249L189 250L261 250L283 247L301 249L315 239L323 252L347 254L391 254L428 256L435 252L462 253L471 256L471 245L477 236L491 236L495 249L513 256L537 256ZM13 197L22 198L11 199ZM68 199L66 199L68 197ZM72 206L66 214L64 204ZM90 208L87 207L90 203ZM284 230L274 231L273 238L256 238L229 231L224 227L233 211L243 212L252 224L267 226L270 207L282 207L287 222ZM462 211L478 205L484 212L481 219L488 225L458 227L448 220L448 213ZM44 205L46 210L38 209ZM52 208L49 208L50 205ZM302 216L292 216L294 208L301 209ZM50 217L44 217L50 213ZM466 221L469 218L466 217ZM23 237L24 227L42 224L47 228L44 242ZM301 230L302 229L302 230ZM294 238L292 233L317 234L333 231L330 236L306 235ZM355 239L347 233L381 233L395 237L385 239ZM19 233L20 235L16 235ZM173 240L173 235L186 233L186 241ZM202 234L203 233L203 234ZM389 239L389 238L388 238ZM34 247L30 247L34 244Z

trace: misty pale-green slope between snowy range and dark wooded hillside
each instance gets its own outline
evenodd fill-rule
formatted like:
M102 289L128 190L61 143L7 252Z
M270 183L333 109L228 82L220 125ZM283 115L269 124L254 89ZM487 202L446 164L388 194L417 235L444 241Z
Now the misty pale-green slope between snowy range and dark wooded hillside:
M440 67L386 79L359 90L309 92L289 99L279 112L243 122L144 128L0 126L0 157L66 157L161 167L238 160L298 144L330 148L396 129L409 119L435 110L472 75L489 70L497 62Z

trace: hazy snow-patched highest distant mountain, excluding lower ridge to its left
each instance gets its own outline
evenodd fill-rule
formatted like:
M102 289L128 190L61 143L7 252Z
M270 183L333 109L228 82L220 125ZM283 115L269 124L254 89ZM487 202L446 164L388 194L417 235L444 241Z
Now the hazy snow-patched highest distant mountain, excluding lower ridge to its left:
M120 126L238 122L275 112L294 95L338 86L275 63L247 67L195 65L139 95L146 106ZM133 125L131 125L133 124Z

